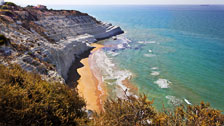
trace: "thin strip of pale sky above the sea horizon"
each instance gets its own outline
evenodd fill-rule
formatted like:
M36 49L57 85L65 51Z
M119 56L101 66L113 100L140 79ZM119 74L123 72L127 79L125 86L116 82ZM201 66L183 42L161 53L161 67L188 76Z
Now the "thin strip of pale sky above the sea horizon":
M224 0L5 0L19 5L224 4Z

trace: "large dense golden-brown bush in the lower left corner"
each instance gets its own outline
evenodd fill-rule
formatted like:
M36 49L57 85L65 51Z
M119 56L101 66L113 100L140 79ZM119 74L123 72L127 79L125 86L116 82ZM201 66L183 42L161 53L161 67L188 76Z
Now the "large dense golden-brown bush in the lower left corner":
M49 83L17 65L0 65L0 125L78 125L85 102L60 83Z

